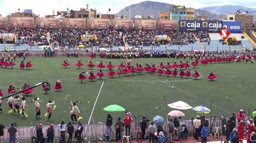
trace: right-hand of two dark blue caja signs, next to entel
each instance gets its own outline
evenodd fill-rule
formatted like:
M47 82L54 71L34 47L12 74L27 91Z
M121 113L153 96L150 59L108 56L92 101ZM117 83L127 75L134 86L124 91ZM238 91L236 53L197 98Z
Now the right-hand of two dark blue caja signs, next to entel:
M202 31L219 32L223 28L222 21L219 20L202 20L201 28Z

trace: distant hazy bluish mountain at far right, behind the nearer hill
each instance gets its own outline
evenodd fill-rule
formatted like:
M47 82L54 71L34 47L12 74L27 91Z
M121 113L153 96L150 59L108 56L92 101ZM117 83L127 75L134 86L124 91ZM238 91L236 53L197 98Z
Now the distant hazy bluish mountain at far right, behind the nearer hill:
M251 13L252 11L256 11L256 9L247 8L240 5L209 6L205 8L200 8L200 10L209 11L217 15L226 15L228 13L235 13L237 12L237 10L242 10L244 12L248 10L249 13Z

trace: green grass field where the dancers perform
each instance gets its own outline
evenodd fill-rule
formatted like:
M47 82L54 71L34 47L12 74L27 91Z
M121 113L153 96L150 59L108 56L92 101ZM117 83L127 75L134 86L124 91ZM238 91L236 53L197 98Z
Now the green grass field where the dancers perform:
M69 111L71 110L70 101L76 99L82 102L78 104L78 108L82 113L82 123L86 124L95 103L98 91L102 84L102 80L95 80L93 82L85 80L85 83L80 83L77 80L80 69L77 69L75 63L82 59L82 62L87 64L88 58L69 59L71 66L65 69L61 64L64 58L27 58L32 60L35 65L31 70L19 69L19 62L22 59L17 59L17 66L14 69L0 68L0 88L3 94L6 94L8 85L14 83L16 87L22 87L24 82L29 82L30 85L49 80L51 83L51 90L49 95L44 95L41 87L35 88L35 92L26 96L26 114L28 118L14 117L8 115L8 104L6 99L3 101L3 113L0 113L0 122L9 125L11 122L16 121L19 126L33 126L42 122L45 125L46 117L46 103L53 97L56 101L57 108L53 111L51 122L57 124L61 120L66 122L70 121ZM110 59L103 59L105 61ZM163 61L166 65L167 60L175 61L174 59L133 59L133 63L140 61L145 65L150 61L160 65ZM95 65L98 65L98 59L92 59ZM112 64L118 66L120 59L112 59ZM83 68L89 71L86 66ZM212 116L219 116L219 111L228 116L231 112L237 113L240 109L247 110L250 108L252 111L256 108L256 66L255 63L239 62L239 63L213 63L207 66L199 65L198 71L203 76L200 80L193 80L193 78L180 78L180 77L166 77L158 76L155 74L143 75L134 74L129 77L107 77L107 69L104 69L105 84L99 96L98 103L95 108L93 117L98 122L104 122L108 112L103 108L107 105L118 104L122 105L125 109L132 112L133 116L144 115L152 119L154 116L159 115L165 117L165 102L163 95L166 96L167 104L184 101L191 106L204 105L210 108L210 99L212 102ZM95 68L95 73L98 68ZM217 79L213 82L207 80L207 76L211 69L215 69ZM115 69L117 71L117 69ZM191 71L194 71L192 69ZM193 74L193 72L191 72ZM53 87L57 78L61 78L63 89L56 92ZM68 96L70 95L70 96ZM36 113L34 103L30 103L32 98L39 96L41 98L41 119L35 119ZM167 107L170 112L175 109ZM197 115L192 110L183 110L185 113L184 119L191 119ZM115 118L124 117L124 112L116 112ZM113 113L112 113L113 116ZM210 114L206 115L210 118Z

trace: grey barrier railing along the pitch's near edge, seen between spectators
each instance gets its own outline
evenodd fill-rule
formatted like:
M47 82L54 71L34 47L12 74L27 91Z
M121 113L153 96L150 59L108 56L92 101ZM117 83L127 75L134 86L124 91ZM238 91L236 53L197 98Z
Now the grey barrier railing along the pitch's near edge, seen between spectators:
M180 124L184 123L187 126L187 130L188 132L193 132L193 127L192 127L192 120L179 120ZM209 122L209 127L210 127L210 123L211 121L208 119ZM215 120L213 123L213 119L212 119L212 124L214 124L214 126L219 126L220 121L219 120ZM132 124L131 129L132 129L132 134L135 135L137 134L137 131L135 131L134 129L134 125L135 123ZM43 126L44 131L47 130L49 126ZM77 125L74 125L75 130L77 130ZM59 139L59 135L60 135L60 126L56 125L53 128L55 128L54 133L55 133L55 138ZM31 138L33 136L36 136L35 130L36 127L17 127L18 132L16 133L16 138L17 140L31 140ZM83 137L85 138L91 138L91 137L100 137L103 138L104 134L106 132L106 125L105 124L96 124L95 125L95 129L93 128L93 125L84 125L84 130L83 130ZM167 124L163 125L163 129L165 131L168 131L168 127ZM87 131L87 133L86 133ZM95 134L96 131L96 134ZM114 133L114 124L112 125L112 133ZM124 132L122 133L124 134ZM46 132L44 133L44 137L46 137ZM66 137L68 137L68 133L66 132ZM4 128L4 135L1 137L1 142L3 141L7 141L9 140L9 133L8 133L8 128Z

